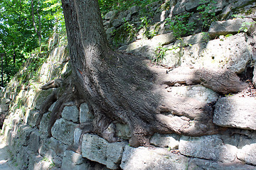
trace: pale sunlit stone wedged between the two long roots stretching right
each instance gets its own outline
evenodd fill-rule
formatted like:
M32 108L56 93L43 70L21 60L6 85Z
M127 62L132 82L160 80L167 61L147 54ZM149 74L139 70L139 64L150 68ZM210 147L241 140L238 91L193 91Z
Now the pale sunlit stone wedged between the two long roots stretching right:
M206 103L217 101L219 97L214 91L201 85L172 86L169 93L174 96L195 98L197 101Z

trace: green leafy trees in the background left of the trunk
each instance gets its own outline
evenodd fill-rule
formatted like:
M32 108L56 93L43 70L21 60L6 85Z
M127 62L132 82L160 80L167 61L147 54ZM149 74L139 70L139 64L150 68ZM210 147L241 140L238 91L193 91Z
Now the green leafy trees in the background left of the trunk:
M43 0L33 0L34 15L31 7L31 1L27 0L0 2L0 53L6 55L3 59L4 84L14 77L33 50L41 49L32 16L41 30L41 45L46 45L53 30L55 19L49 17L53 12L43 10L49 7L48 4Z

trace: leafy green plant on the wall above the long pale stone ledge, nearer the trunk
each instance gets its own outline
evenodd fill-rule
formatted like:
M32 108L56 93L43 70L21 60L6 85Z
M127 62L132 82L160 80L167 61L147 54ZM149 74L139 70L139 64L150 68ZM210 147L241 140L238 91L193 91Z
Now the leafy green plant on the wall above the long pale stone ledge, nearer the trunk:
M174 32L176 38L180 38L183 35L186 35L188 32L193 31L196 26L196 23L188 23L188 18L191 17L193 13L181 13L177 16L174 16L174 19L166 18L166 25L170 26L170 30Z

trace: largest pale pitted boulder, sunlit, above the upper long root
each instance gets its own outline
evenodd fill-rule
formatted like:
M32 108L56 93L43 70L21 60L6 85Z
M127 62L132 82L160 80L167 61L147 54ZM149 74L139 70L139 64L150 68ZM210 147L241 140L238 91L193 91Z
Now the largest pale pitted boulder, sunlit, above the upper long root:
M228 38L210 40L207 45L201 43L185 47L181 51L181 66L230 69L239 74L252 58L252 48L246 40L247 35L239 33Z

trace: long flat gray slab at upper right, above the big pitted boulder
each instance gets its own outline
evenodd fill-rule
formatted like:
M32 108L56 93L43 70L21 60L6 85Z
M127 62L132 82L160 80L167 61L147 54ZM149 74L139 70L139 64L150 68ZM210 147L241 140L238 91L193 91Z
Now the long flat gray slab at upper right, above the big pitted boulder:
M243 26L243 24L251 23ZM247 30L245 30L247 28ZM211 37L216 35L235 34L238 32L252 33L255 29L255 22L251 18L235 18L228 21L215 21L210 25L209 33Z

